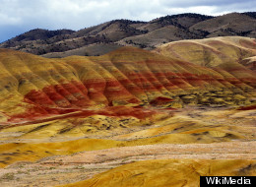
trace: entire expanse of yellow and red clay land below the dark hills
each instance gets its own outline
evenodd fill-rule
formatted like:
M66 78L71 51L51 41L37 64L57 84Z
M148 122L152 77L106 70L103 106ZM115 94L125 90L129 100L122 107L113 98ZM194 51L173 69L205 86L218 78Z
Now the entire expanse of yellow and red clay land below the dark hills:
M70 34L44 36L60 32ZM243 36L63 58L0 49L0 186L255 176L255 56L256 39Z

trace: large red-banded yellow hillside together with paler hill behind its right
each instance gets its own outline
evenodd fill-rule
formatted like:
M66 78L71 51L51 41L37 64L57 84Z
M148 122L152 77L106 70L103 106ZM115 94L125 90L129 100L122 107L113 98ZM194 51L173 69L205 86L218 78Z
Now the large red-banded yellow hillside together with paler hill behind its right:
M256 54L254 43L244 37L179 41L160 47L167 57L134 47L62 59L1 49L1 121L33 120L84 107L249 103L255 96L255 73L238 60ZM220 44L218 51L214 47Z

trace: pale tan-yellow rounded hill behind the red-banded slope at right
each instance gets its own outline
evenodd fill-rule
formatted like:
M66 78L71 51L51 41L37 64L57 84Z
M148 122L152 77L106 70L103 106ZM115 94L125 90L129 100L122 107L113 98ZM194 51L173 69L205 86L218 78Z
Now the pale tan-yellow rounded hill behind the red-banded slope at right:
M256 39L239 36L190 39L160 45L155 51L200 66L220 67L230 63L233 68L243 59L253 58L256 54Z

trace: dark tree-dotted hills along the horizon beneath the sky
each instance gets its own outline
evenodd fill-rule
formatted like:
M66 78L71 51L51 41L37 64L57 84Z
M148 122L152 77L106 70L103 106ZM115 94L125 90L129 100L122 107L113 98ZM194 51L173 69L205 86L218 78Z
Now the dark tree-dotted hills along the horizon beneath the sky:
M199 14L165 16L150 22L114 20L80 31L32 30L0 44L44 57L97 56L121 46L155 49L181 39L226 35L256 37L256 13L218 17Z

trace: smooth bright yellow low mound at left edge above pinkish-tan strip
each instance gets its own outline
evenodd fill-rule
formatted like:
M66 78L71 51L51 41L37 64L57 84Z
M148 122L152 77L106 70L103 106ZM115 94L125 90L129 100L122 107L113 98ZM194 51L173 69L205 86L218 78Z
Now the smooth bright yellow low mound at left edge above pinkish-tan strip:
M12 143L0 145L0 167L16 161L35 161L46 156L71 155L82 151L108 149L118 146L117 141L81 139L57 143Z

